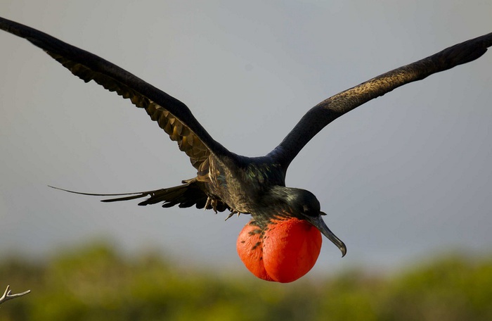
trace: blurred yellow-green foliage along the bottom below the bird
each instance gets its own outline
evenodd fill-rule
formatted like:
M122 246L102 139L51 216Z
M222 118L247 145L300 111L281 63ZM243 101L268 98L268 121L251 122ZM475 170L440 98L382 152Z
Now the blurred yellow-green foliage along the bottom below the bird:
M492 258L447 256L392 276L351 270L292 284L128 258L104 243L44 262L2 258L0 320L492 320Z

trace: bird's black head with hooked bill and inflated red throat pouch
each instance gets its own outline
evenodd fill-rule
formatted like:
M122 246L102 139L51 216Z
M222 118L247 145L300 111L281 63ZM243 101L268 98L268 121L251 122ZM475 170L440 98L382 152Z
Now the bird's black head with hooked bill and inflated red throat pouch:
M305 275L321 251L321 234L342 251L345 244L323 221L316 196L304 189L276 187L265 194L263 209L242 229L238 254L261 279L292 282Z

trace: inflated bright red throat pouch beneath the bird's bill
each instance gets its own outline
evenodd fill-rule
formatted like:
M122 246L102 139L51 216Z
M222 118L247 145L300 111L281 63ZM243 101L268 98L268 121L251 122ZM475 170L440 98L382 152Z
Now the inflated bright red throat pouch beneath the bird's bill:
M251 220L239 234L239 257L260 279L293 282L318 260L321 232L305 220L290 218L269 224L264 231Z

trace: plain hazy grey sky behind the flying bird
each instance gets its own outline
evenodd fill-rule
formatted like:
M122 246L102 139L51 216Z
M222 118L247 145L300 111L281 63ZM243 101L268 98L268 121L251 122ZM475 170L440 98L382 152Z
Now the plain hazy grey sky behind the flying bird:
M264 155L319 101L492 31L491 1L23 1L0 15L79 46L186 103L231 151ZM0 32L0 254L107 237L243 269L247 216L100 203L96 193L195 175L146 113ZM346 258L314 270L399 267L492 244L492 53L408 84L325 128L287 185L312 191ZM244 268L245 270L245 268Z

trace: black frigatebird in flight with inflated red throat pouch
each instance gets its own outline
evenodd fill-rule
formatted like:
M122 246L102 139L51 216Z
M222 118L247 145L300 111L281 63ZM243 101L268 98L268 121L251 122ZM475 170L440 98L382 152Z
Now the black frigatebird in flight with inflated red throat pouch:
M254 275L273 282L292 282L309 272L321 250L321 234L339 248L342 256L347 253L345 244L323 221L325 213L316 196L285 186L287 168L299 151L339 116L403 84L474 61L492 45L492 33L485 34L335 94L311 108L266 156L246 157L215 141L184 103L117 65L11 20L0 18L0 29L43 49L84 82L93 80L145 109L197 170L196 177L165 189L129 194L71 192L112 196L103 200L106 202L145 198L138 205L162 203L164 208L177 205L215 212L229 210L229 217L249 214L252 220L242 229L236 244L238 254Z

